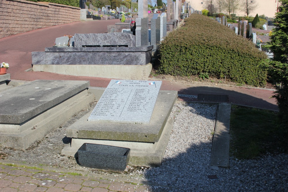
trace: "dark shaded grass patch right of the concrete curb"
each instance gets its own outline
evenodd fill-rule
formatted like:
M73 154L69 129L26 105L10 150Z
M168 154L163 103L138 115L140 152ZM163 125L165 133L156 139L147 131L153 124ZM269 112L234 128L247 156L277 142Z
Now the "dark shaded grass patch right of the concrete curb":
M255 159L267 152L287 152L279 122L277 112L232 105L230 155Z

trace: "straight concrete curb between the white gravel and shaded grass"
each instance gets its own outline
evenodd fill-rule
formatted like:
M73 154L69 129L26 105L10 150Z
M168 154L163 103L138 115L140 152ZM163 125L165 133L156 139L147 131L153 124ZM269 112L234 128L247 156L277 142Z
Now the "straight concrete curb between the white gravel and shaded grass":
M211 149L211 166L229 168L230 104L219 104Z

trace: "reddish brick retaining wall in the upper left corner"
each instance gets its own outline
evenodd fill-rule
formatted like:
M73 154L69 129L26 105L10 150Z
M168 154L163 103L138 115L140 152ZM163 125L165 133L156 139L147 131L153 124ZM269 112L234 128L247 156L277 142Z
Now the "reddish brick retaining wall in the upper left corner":
M0 38L80 20L80 8L56 3L0 0Z

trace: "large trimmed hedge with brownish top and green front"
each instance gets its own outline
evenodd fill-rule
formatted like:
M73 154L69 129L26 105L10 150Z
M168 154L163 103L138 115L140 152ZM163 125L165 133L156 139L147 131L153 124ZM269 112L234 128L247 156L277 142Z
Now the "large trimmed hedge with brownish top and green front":
M185 25L160 44L158 73L209 76L254 86L266 84L265 53L228 27L209 17L192 14Z

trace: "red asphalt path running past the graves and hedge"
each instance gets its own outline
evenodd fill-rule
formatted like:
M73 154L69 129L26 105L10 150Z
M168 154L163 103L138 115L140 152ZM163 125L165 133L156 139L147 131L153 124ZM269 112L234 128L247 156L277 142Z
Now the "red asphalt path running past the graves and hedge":
M118 20L79 21L69 24L52 26L34 31L12 35L0 39L0 62L9 63L7 73L11 79L34 81L36 79L49 80L86 80L90 86L107 87L111 79L98 77L79 77L60 75L56 73L28 71L31 68L31 52L44 51L45 47L52 47L56 37L74 35L75 33L105 33L108 24L115 24ZM149 79L153 80L153 79ZM162 80L161 90L177 90L179 94L225 94L229 102L262 109L278 110L276 100L270 98L273 90L233 87L226 85L205 85L202 83L179 83ZM186 99L182 97L182 99Z

